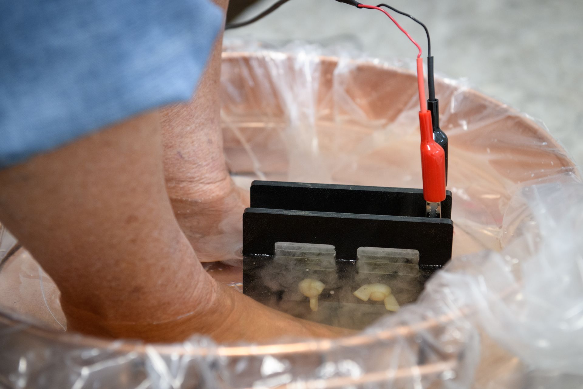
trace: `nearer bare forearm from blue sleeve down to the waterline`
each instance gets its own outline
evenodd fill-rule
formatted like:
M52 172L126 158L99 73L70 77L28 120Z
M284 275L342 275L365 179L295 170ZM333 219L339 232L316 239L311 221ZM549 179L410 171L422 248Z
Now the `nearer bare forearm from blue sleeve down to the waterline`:
M173 320L212 293L160 161L150 113L0 171L0 218L57 283L69 327Z

